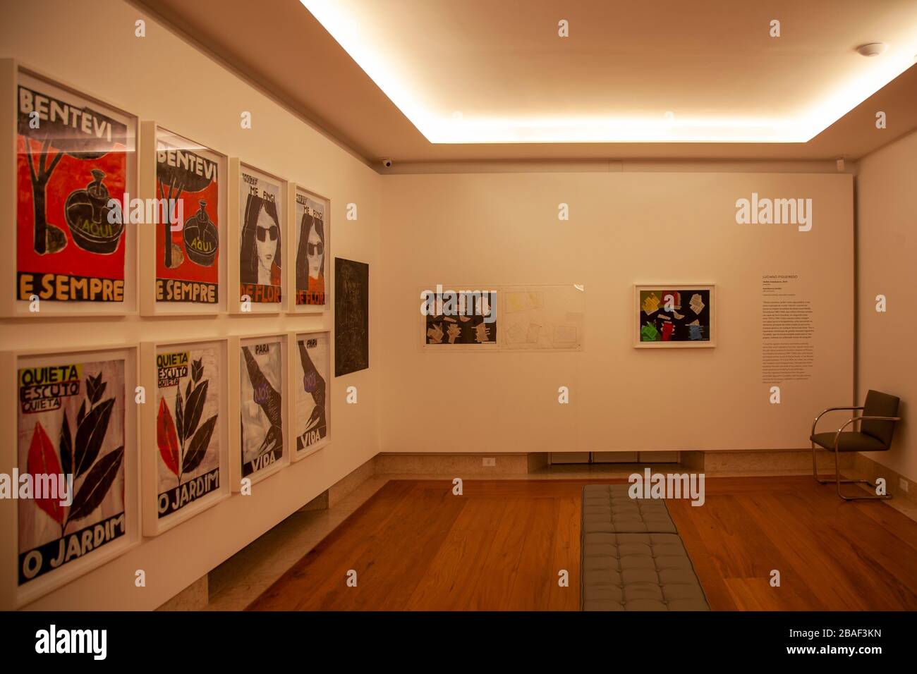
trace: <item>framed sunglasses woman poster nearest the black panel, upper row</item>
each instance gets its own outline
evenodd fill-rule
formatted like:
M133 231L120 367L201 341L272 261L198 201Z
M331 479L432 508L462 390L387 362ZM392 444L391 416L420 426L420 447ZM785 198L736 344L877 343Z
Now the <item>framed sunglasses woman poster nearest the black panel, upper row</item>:
M288 193L292 197L289 212L293 214L290 236L296 251L287 281L293 288L288 309L300 314L326 311L330 295L326 278L331 260L328 200L293 182Z

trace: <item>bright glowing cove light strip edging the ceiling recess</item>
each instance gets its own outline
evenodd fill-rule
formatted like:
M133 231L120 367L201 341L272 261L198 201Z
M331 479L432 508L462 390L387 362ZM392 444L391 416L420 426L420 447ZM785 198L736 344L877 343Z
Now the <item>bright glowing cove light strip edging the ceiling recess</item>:
M872 42L856 51L871 56L860 69L801 114L773 117L685 116L469 116L440 114L410 80L392 38L361 16L354 0L300 0L414 127L431 143L804 143L913 65L917 27L910 39Z

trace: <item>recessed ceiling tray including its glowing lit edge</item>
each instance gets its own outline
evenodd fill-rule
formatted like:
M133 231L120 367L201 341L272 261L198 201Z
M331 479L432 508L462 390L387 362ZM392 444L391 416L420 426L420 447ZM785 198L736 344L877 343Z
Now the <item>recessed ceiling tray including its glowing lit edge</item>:
M805 142L917 56L913 0L302 2L432 143Z

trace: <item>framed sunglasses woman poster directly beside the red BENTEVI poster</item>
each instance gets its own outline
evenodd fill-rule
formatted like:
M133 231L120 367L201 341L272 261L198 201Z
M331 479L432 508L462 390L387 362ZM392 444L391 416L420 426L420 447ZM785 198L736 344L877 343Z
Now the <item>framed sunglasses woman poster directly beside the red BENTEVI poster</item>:
M229 248L236 261L229 303L234 314L270 314L284 308L283 247L286 237L287 182L238 160L229 160L230 193L238 194L229 220Z

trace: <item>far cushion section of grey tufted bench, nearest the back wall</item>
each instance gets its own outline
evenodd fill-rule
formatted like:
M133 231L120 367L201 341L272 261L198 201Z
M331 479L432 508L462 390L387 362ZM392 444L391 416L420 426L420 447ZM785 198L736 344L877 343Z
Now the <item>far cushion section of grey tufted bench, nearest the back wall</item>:
M582 488L583 534L675 534L661 499L632 499L628 484L587 484Z

